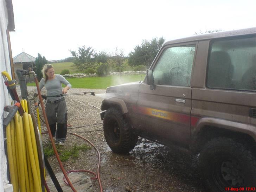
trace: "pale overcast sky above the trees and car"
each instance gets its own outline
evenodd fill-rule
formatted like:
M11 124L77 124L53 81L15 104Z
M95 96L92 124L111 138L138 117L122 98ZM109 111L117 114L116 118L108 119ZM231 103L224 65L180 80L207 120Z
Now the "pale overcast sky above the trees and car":
M12 55L71 57L85 45L128 55L143 39L256 27L255 0L12 0Z

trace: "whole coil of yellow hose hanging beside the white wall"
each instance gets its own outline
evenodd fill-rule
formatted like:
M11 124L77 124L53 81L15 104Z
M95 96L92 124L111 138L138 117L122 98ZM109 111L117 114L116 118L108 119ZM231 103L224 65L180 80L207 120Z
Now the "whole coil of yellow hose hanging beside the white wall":
M21 100L24 111L26 100ZM41 177L32 117L16 113L6 127L8 164L14 192L41 192Z

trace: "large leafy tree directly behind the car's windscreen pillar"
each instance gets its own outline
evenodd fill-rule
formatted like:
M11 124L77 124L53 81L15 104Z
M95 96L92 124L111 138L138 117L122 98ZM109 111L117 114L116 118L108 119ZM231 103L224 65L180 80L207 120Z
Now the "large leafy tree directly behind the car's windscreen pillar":
M148 67L164 43L165 39L163 37L159 39L155 37L150 41L142 40L141 45L137 45L134 51L129 53L128 63L131 66L146 65Z

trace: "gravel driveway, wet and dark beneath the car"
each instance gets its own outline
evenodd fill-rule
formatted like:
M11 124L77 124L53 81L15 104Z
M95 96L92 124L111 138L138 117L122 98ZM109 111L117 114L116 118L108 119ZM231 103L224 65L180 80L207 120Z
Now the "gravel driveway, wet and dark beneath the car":
M30 97L35 87L28 87ZM104 93L105 90L90 90L72 88L68 93L90 92ZM18 91L19 92L19 91ZM43 93L45 93L43 91ZM69 129L68 132L80 132L79 135L89 139L101 153L100 177L103 191L183 191L203 192L201 180L197 171L197 157L175 148L167 148L154 142L141 139L128 155L113 153L107 146L102 131L99 109L103 98L91 95L66 96L68 106L68 123L72 127L94 126ZM91 104L91 105L90 105ZM32 108L33 105L31 104ZM34 111L34 110L33 110ZM46 130L43 123L42 131ZM70 128L72 128L70 127ZM100 130L95 132L88 132ZM43 136L43 142L49 142L49 136ZM84 140L68 134L64 149L73 145L86 143ZM48 159L54 172L61 172L54 156ZM97 172L98 156L94 148L80 152L78 159L70 159L63 163L66 171L87 169ZM91 175L88 173L91 177ZM93 180L93 191L100 191L98 182Z

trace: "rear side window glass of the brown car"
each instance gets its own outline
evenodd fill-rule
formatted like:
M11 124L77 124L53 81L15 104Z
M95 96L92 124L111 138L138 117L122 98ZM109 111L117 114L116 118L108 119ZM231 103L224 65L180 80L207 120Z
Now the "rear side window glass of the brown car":
M256 37L211 43L207 87L256 90Z

